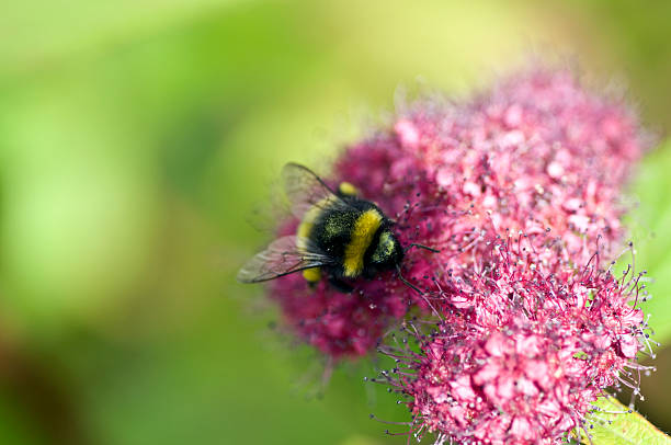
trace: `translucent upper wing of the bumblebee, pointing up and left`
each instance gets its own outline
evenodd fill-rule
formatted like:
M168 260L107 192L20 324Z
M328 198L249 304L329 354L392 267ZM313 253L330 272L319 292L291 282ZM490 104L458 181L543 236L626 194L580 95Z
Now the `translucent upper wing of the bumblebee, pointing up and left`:
M289 162L284 166L282 180L292 214L298 218L303 218L315 206L326 208L334 204L346 205L319 176L300 164Z

